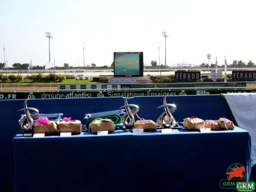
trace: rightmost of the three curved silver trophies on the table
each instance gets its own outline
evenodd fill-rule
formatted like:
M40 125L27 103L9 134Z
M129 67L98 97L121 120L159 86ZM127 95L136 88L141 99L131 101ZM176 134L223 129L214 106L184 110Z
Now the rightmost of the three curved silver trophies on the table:
M176 105L173 103L166 102L166 96L163 98L163 105L157 107L164 107L164 112L157 118L157 123L161 128L164 127L174 127L176 125L176 121L172 116L172 113L176 111Z

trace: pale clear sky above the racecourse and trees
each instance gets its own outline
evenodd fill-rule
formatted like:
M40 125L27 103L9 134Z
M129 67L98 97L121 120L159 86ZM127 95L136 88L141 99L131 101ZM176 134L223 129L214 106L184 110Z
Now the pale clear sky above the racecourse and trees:
M144 63L256 63L255 0L1 0L0 62L111 65L114 51L143 51Z

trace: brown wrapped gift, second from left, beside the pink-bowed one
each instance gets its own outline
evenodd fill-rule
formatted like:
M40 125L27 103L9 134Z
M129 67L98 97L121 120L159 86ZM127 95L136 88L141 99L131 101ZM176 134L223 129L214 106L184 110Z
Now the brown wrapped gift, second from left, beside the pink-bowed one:
M80 120L71 120L71 121L60 121L59 132L71 132L72 134L81 133L81 121Z

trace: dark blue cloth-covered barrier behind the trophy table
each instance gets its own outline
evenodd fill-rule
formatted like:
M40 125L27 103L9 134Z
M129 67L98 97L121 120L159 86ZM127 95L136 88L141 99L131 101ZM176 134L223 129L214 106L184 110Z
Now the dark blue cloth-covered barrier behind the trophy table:
M139 105L139 116L156 121L163 112L163 108L157 108L163 104L163 96L132 97L129 103ZM11 192L11 139L19 133L18 120L23 111L17 111L23 107L24 100L0 100L0 117L2 117L0 129L0 186L1 191ZM202 119L228 118L234 121L230 109L220 95L190 95L168 96L168 103L175 103L177 111L173 114L176 121L184 118L200 117ZM73 98L73 99L31 99L28 106L39 109L40 113L62 112L63 117L78 119L84 124L84 114L111 111L124 105L122 97L99 98ZM243 128L243 127L241 127Z

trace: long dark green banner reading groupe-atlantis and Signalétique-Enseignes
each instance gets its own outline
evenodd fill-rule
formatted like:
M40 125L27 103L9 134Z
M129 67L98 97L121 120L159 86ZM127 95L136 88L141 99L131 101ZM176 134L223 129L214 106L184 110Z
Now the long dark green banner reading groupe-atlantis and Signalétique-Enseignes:
M256 93L256 89L227 90L127 90L127 91L81 91L81 92L1 92L0 99L63 99L85 97L136 97L172 95L216 95L220 93Z

